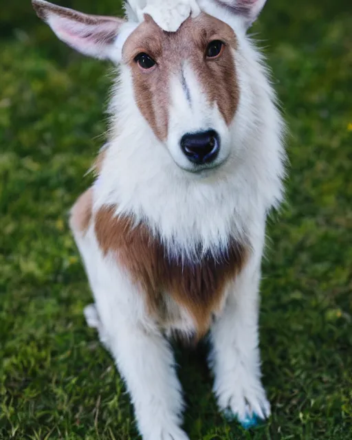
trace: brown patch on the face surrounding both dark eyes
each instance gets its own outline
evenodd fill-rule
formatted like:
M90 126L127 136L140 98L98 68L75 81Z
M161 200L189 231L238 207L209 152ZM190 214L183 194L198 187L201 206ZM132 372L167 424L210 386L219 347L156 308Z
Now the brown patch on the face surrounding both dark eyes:
M225 43L219 58L206 58L210 41ZM236 36L223 21L200 14L187 19L177 32L164 32L146 16L145 21L129 36L124 44L124 62L131 67L137 105L160 140L168 133L170 103L169 80L182 78L183 65L189 63L199 78L210 104L217 103L227 124L230 124L239 101L239 87L232 49L236 49ZM156 61L152 69L142 69L135 56L146 53Z

